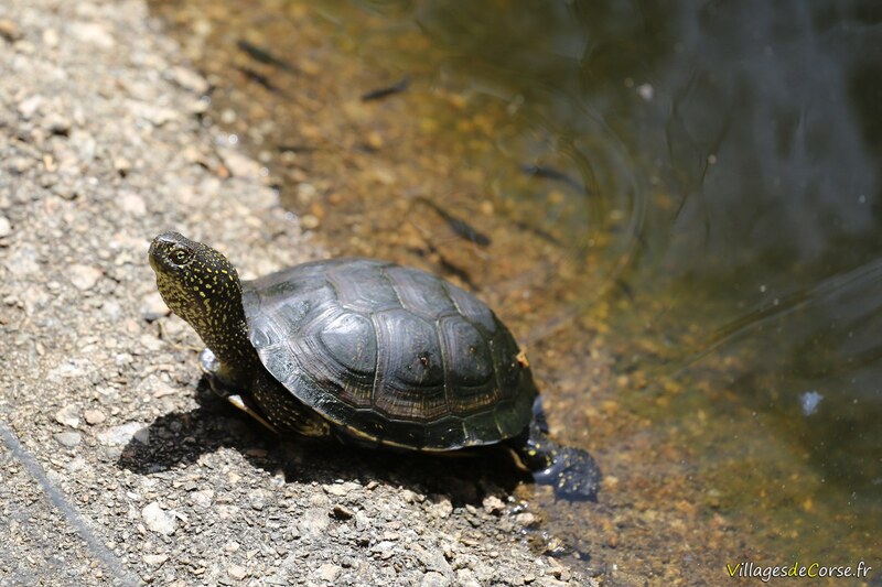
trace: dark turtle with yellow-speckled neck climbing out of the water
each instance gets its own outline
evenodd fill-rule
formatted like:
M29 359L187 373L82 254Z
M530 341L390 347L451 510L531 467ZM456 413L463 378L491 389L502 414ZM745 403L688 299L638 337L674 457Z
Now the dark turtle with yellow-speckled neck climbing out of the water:
M241 281L220 252L171 231L149 260L206 345L212 389L267 428L408 452L504 444L556 497L596 500L596 463L548 437L512 333L453 283L362 258Z

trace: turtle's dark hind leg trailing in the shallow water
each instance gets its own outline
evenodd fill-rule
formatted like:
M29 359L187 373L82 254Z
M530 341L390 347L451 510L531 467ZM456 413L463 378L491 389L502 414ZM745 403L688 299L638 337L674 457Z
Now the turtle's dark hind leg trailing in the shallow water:
M510 445L537 483L553 486L556 497L598 501L600 467L584 450L556 444L535 422Z

